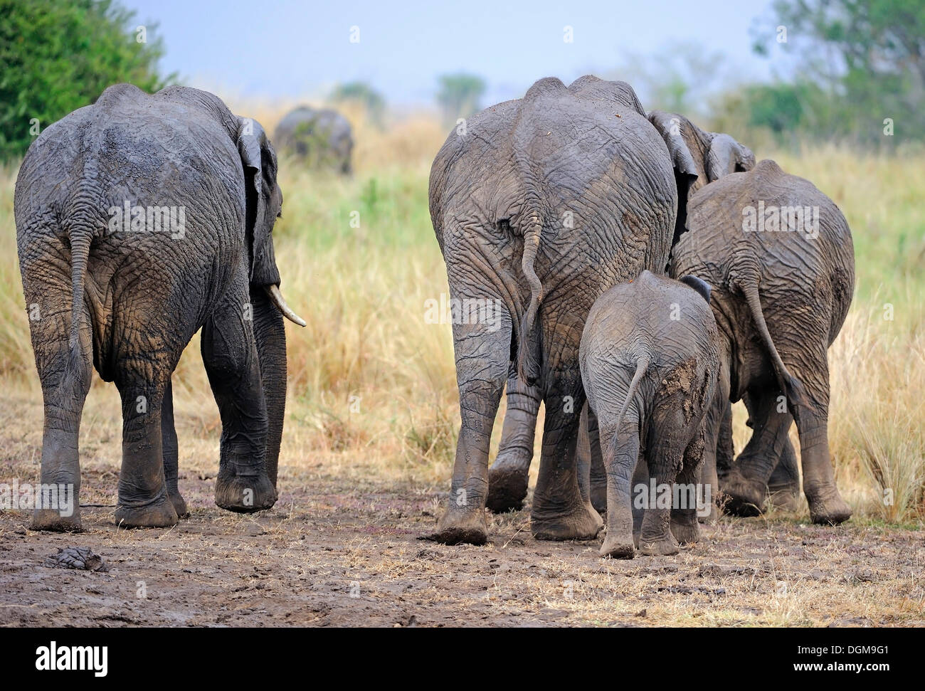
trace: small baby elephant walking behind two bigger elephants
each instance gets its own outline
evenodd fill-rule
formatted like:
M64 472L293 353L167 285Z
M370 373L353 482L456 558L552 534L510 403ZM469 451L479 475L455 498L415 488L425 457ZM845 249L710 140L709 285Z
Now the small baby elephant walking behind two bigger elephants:
M634 541L643 554L675 554L699 537L695 483L720 367L709 286L648 271L614 286L591 307L580 361L607 470L600 556L632 559Z

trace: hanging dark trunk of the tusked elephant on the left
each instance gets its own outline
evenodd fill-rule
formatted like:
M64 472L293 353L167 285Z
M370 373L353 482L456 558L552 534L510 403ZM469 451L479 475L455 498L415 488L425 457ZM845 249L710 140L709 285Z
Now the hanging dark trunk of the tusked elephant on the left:
M267 291L251 289L253 337L260 359L260 378L266 403L266 475L277 486L279 443L286 415L286 330L283 317Z

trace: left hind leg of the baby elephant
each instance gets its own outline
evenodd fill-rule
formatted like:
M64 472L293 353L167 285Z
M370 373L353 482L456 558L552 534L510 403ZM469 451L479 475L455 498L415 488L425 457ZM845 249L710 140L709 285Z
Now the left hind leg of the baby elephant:
M634 516L633 492L635 468L639 460L639 421L633 412L626 420L614 426L599 428L601 448L604 450L603 464L606 468L607 489L607 535L601 546L601 557L633 559Z

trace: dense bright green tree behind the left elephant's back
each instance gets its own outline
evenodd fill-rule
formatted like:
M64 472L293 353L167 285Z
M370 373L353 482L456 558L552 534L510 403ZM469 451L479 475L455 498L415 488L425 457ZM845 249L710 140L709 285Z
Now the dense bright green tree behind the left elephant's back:
M0 0L0 159L111 84L154 92L176 79L158 75L155 31L112 0Z

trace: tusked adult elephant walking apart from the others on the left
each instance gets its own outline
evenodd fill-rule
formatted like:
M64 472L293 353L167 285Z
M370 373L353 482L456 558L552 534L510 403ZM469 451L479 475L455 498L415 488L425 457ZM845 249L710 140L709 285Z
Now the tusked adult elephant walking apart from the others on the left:
M196 89L150 95L118 84L32 143L15 212L44 399L43 484L70 485L76 500L80 413L95 367L122 399L117 524L176 524L187 508L170 378L202 328L222 419L216 504L274 504L282 315L298 319L278 289L271 231L281 204L264 130ZM32 526L80 529L80 511L36 507Z

